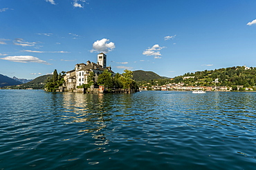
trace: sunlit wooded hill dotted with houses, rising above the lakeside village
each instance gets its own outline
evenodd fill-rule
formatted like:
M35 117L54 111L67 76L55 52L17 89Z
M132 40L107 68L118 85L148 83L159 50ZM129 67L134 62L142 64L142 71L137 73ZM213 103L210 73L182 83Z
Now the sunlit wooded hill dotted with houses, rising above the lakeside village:
M176 76L174 83L185 83L185 85L219 85L230 86L244 85L244 87L255 86L256 67L227 67L218 70L205 70L202 72L186 73L183 76Z

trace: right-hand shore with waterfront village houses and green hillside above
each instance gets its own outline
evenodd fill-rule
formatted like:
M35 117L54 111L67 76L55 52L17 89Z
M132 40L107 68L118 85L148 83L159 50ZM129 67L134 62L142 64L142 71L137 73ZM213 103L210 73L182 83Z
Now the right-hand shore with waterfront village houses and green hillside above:
M186 73L158 85L158 80L140 85L140 90L254 91L256 68L244 66ZM161 84L161 83L159 83Z

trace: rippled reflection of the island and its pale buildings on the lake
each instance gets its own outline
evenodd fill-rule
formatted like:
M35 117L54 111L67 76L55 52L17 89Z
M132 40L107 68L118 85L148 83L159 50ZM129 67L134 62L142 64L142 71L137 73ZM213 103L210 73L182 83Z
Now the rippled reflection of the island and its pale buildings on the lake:
M110 139L131 141L132 139L127 138L129 132L126 134L120 129L138 127L143 130L136 121L147 120L156 123L155 120L160 116L154 114L155 110L152 109L152 105L159 105L158 97L154 98L154 96L72 92L60 94L62 94L60 103L63 108L61 114L58 114L61 117L60 121L69 128L77 129L77 134L70 135L71 138L77 135L91 135L95 139L94 145L106 145ZM113 132L118 134L118 137L112 136ZM71 139L70 136L65 140Z

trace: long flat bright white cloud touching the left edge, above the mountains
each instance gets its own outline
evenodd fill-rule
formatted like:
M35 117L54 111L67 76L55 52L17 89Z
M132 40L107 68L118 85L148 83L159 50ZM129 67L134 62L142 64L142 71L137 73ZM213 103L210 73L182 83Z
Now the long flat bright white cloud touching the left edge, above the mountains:
M2 60L7 61L13 61L13 62L19 62L19 63L42 63L46 65L51 65L50 63L47 63L46 61L40 60L35 56L6 56L5 58L0 58Z

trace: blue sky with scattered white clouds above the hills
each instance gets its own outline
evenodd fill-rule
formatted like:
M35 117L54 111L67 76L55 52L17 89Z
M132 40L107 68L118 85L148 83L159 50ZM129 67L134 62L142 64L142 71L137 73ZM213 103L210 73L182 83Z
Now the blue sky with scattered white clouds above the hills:
M0 74L97 62L114 72L256 67L255 0L0 0Z

